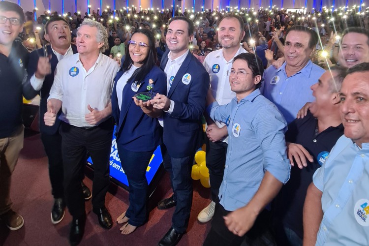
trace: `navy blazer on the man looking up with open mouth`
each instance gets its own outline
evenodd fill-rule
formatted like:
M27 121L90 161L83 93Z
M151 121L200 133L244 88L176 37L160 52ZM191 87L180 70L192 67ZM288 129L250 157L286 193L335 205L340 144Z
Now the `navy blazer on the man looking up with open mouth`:
M72 45L72 50L73 50L73 54L77 53L77 47L75 45ZM62 110L60 110L58 112L57 120L56 120L56 122L53 126L45 125L44 114L47 112L47 106L46 106L47 105L47 98L50 95L50 89L51 89L51 86L54 83L55 68L57 67L58 62L59 62L57 56L54 54L54 52L51 49L50 45L47 46L47 54L51 55L51 59L50 59L51 74L49 74L45 77L44 83L42 84L42 88L39 92L35 91L33 89L32 90L33 90L34 96L36 96L39 93L40 97L41 97L40 111L39 111L40 132L51 135L51 134L55 134L58 131L59 125L61 123L61 121L59 120L59 116L62 113ZM42 57L42 56L44 56L43 48L38 49L38 50L34 50L30 54L30 63L29 63L29 66L27 68L28 80L26 82L26 83L29 84L29 86L31 86L31 83L30 83L31 76L37 71L38 58Z

